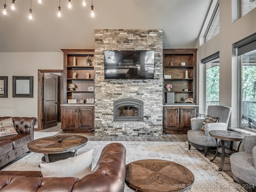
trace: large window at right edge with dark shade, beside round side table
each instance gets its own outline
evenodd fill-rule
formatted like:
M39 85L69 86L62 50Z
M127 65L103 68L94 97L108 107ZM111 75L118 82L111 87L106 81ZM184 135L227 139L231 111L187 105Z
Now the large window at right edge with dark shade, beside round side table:
M240 66L240 126L256 131L256 33L234 44Z

